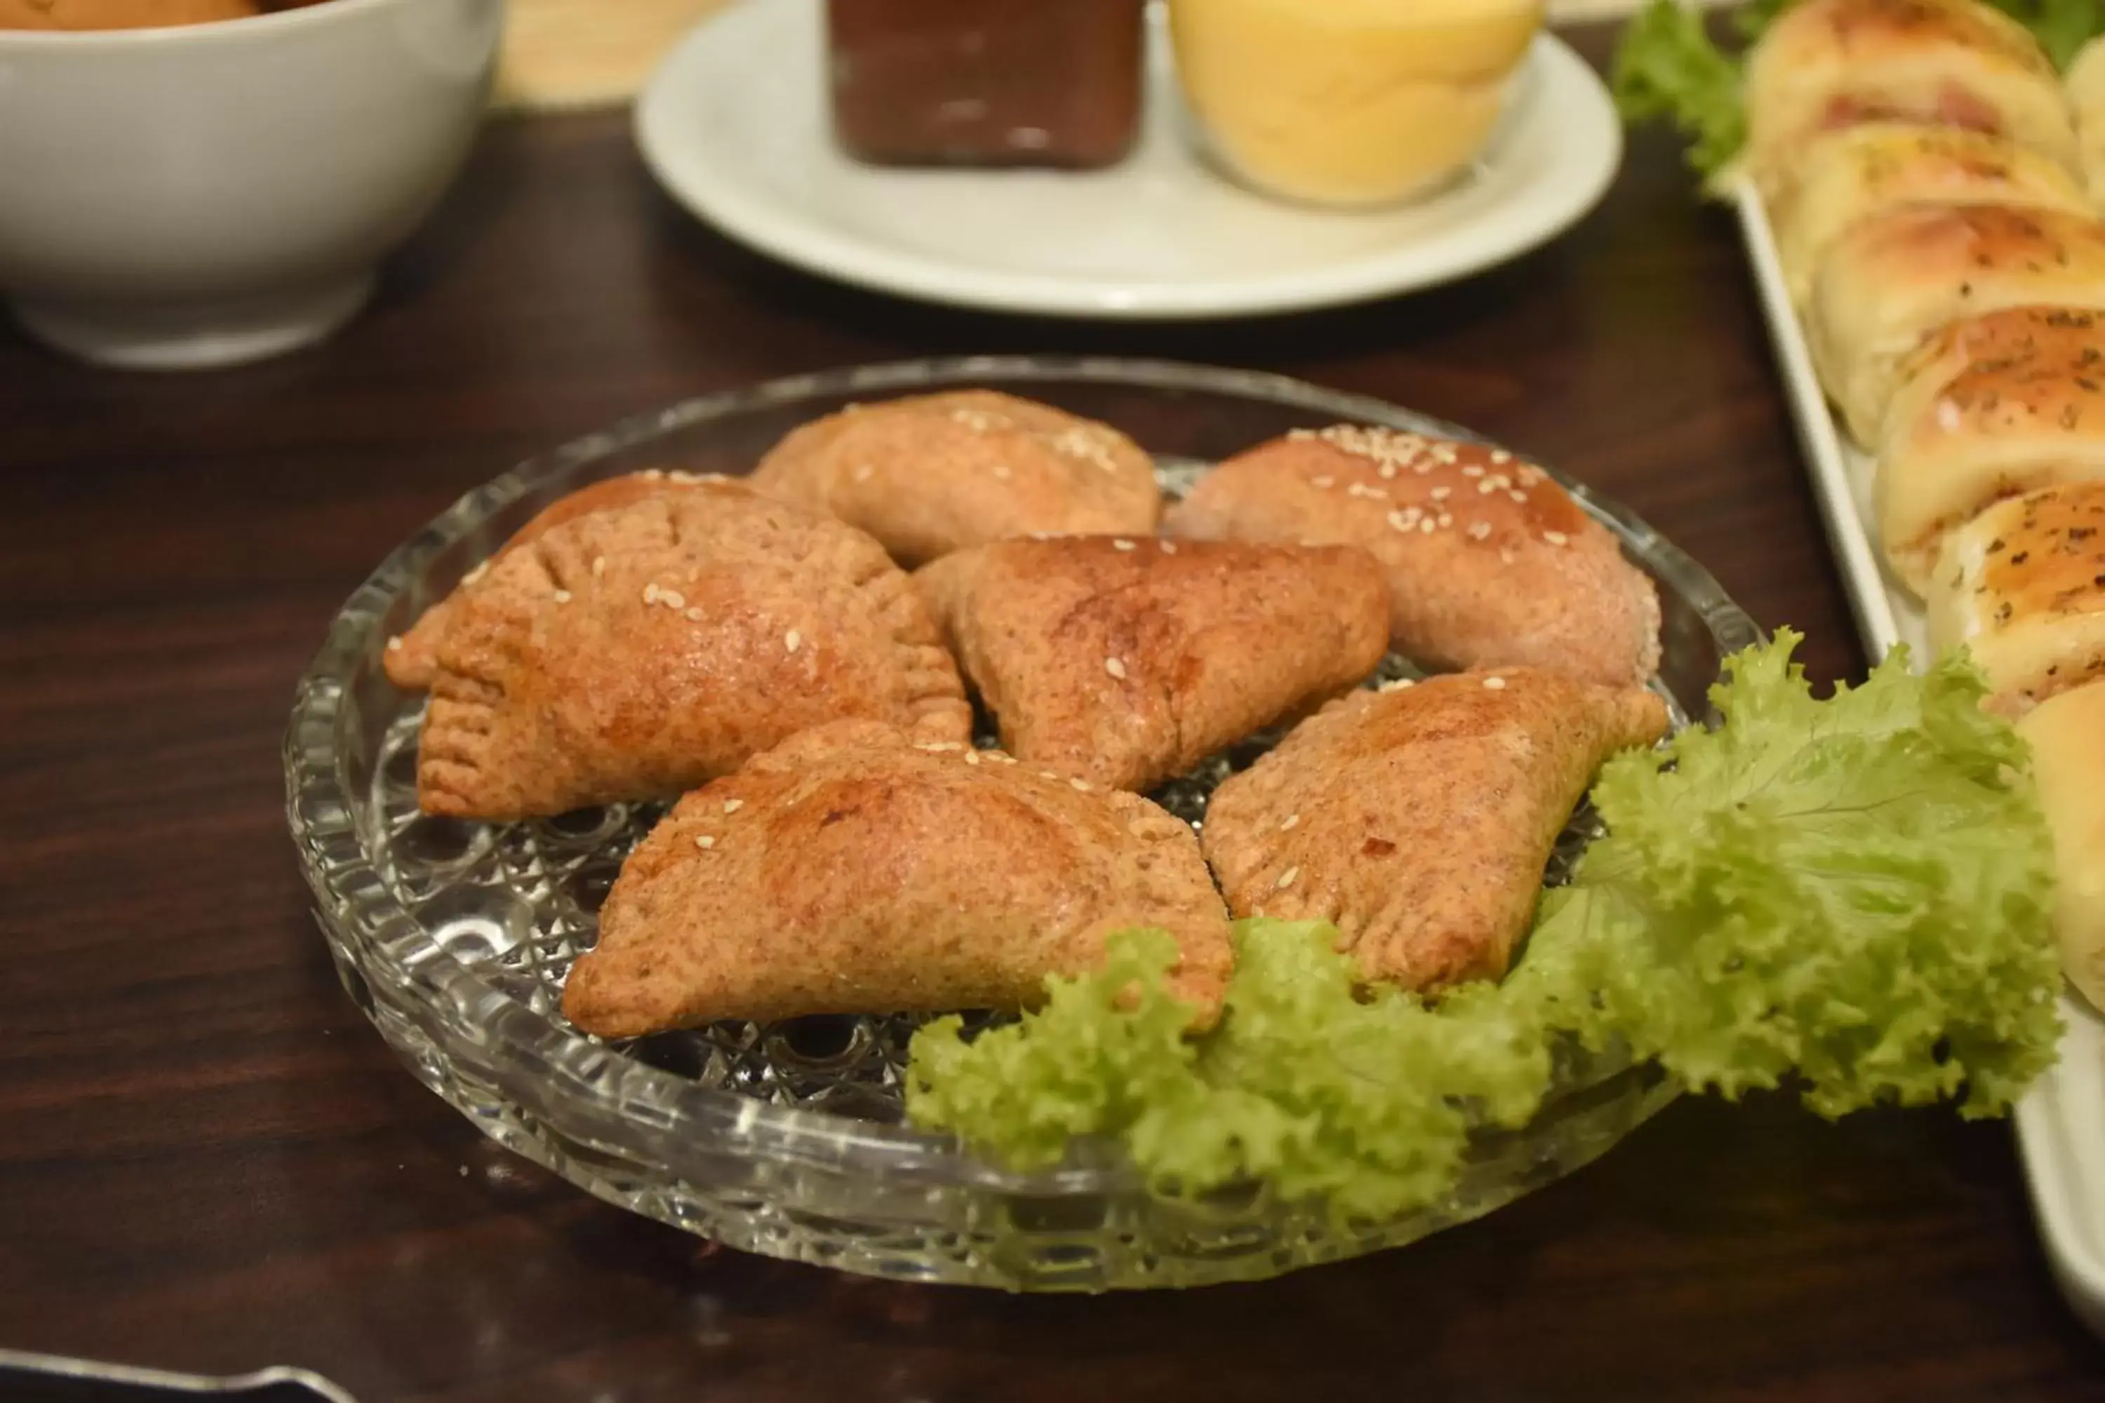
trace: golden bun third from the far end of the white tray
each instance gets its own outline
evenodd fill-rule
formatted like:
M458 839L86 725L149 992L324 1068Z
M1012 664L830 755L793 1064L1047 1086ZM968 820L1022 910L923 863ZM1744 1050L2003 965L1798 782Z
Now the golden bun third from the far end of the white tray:
M1821 259L1806 343L1865 446L1907 358L1945 326L2006 307L2105 309L2105 223L2063 210L1911 206L1867 219Z

